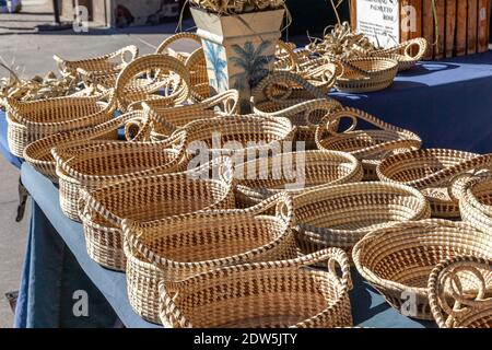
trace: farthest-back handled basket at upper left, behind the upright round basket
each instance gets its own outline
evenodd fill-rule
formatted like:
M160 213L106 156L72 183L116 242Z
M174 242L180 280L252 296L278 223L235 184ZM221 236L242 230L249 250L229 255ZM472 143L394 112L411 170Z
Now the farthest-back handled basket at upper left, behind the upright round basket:
M98 84L109 89L115 86L121 70L138 56L138 47L129 45L115 52L83 60L69 61L56 55L54 59L62 75L81 77L86 86Z

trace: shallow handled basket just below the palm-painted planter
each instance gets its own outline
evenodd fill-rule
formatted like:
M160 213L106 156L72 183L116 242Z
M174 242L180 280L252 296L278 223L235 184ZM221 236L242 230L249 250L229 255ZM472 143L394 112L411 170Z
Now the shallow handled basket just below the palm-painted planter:
M237 90L229 90L200 103L180 106L154 106L145 104L151 124L151 138L161 139L191 121L236 114L239 94Z

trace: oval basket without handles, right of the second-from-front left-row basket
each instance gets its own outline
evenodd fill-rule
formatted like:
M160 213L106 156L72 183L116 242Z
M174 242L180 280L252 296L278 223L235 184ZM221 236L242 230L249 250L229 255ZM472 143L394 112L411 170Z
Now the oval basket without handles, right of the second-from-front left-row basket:
M303 253L327 247L350 252L367 233L395 222L427 219L429 203L403 185L354 183L294 197L297 244Z

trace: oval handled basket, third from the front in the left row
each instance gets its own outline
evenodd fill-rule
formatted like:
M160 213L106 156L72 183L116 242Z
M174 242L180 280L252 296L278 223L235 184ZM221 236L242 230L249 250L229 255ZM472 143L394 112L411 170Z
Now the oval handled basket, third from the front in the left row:
M209 178L209 173L218 178ZM96 262L125 270L121 222L140 222L207 209L234 208L232 162L220 158L183 173L139 176L87 194L82 192L80 218L87 253Z

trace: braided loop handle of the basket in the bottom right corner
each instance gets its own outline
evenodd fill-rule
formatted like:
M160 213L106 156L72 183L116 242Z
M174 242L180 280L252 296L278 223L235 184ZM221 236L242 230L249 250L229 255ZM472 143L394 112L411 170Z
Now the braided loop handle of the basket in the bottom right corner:
M431 272L427 283L429 303L437 325L442 328L458 324L464 315L480 310L492 308L492 299L485 299L485 279L479 269L492 270L492 260L475 256L457 256L441 261ZM480 282L475 300L462 295L462 285L458 272L472 273ZM448 304L448 293L455 300ZM445 319L444 313L448 315Z

